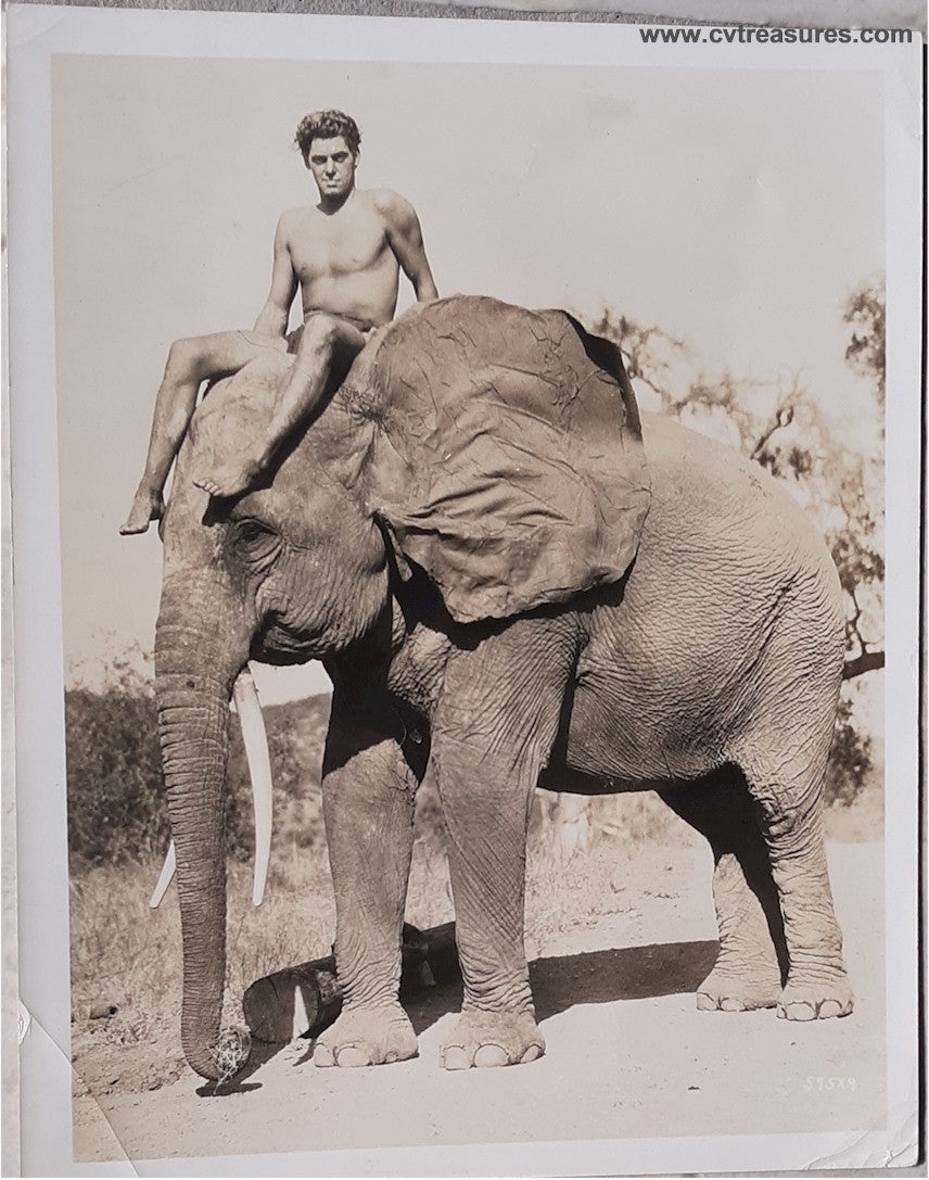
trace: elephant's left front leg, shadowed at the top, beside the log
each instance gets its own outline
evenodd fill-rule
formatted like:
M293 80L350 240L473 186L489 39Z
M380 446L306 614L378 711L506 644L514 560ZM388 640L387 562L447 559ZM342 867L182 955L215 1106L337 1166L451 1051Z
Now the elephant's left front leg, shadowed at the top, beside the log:
M351 720L351 723L349 723ZM394 738L333 700L322 806L335 890L335 962L344 1003L316 1042L318 1066L414 1057L400 1007L400 942L419 776Z

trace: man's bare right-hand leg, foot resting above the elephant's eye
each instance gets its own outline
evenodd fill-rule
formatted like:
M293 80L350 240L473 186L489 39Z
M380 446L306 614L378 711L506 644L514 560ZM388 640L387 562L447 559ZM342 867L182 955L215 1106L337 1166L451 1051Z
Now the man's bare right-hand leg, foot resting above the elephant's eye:
M312 315L300 337L293 368L277 392L264 437L244 454L233 455L212 471L195 476L197 487L218 497L244 492L297 422L309 421L319 409L333 362L349 365L366 340L347 320L325 313Z

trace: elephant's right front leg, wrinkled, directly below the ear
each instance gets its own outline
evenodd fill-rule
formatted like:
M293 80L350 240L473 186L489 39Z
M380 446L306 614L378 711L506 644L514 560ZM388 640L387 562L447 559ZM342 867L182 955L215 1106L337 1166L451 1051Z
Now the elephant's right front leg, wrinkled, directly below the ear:
M432 766L464 979L462 1012L440 1050L446 1069L519 1064L544 1051L523 940L525 845L574 664L571 638L552 621L524 621L457 653L446 671Z

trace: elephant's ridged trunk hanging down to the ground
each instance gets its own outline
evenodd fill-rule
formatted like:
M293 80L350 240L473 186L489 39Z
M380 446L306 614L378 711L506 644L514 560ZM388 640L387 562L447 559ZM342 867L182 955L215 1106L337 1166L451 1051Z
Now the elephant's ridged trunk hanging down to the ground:
M204 608L209 623L191 627L190 589L185 588L185 602L168 588L162 595L155 677L181 903L181 1041L190 1066L215 1080L235 1073L247 1056L247 1048L238 1053L231 1048L235 1040L221 1034L220 1021L225 982L223 815L229 699L248 655L248 638L240 634L238 642L230 640L230 630L244 629L235 625L235 618L220 621L221 608L212 596Z

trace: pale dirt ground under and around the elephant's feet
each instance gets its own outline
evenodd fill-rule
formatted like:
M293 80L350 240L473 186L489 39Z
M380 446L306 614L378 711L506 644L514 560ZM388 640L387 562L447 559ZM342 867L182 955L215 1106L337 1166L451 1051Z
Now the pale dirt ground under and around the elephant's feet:
M413 1061L320 1070L309 1042L297 1040L270 1050L223 1096L189 1070L151 1093L117 1090L96 1100L85 1093L74 1102L74 1156L879 1127L887 1109L883 846L832 844L830 870L856 992L855 1012L844 1020L799 1024L773 1011L698 1012L693 992L715 953L707 854L646 848L624 866L613 912L539 948L531 968L548 1047L539 1061L440 1070L438 1044L460 994L436 988L410 1005L419 1032Z

